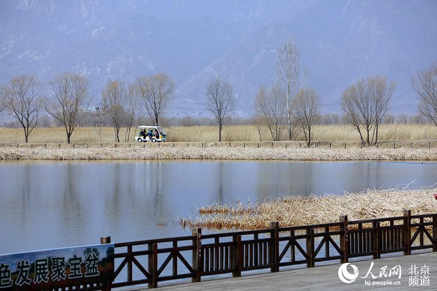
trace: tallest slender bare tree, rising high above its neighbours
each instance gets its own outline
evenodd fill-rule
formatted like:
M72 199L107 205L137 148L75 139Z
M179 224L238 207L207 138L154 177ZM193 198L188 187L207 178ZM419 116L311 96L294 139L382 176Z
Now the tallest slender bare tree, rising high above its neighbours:
M278 75L278 81L284 95L286 105L286 116L288 124L288 140L292 140L293 135L293 108L292 100L293 96L299 90L302 84L299 84L301 79L301 73L299 69L300 55L299 49L296 47L296 43L290 40L287 43L282 44L278 48L278 60L276 61L276 71Z

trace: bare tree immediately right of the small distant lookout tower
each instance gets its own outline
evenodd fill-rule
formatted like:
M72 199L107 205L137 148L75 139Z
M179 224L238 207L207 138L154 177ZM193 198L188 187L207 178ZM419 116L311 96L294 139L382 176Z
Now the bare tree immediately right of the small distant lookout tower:
M119 133L123 125L124 106L126 102L124 83L118 80L109 80L102 90L102 100L106 112L110 115L114 126L115 142L119 143Z

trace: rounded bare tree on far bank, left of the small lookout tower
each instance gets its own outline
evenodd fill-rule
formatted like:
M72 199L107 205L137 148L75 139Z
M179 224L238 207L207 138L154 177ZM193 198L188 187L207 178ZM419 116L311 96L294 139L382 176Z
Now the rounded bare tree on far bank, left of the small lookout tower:
M67 143L71 134L85 116L84 108L88 108L89 81L75 73L61 73L50 81L54 100L46 102L48 114L65 127Z

